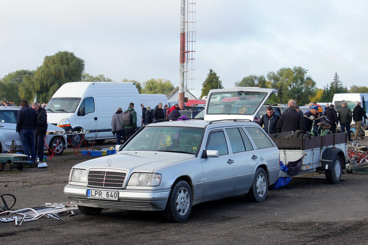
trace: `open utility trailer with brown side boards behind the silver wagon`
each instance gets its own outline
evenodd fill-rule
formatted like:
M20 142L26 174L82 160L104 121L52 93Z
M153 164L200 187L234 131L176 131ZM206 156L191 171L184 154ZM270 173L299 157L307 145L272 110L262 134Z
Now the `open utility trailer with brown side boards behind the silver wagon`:
M280 161L284 165L301 159L299 171L294 176L325 171L328 183L339 183L342 170L346 168L347 163L346 133L311 138L285 138L290 133L279 133L279 137L272 140L279 148ZM288 172L282 172L280 177L291 177L291 175Z

